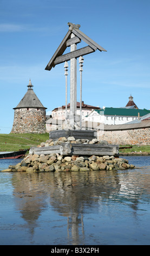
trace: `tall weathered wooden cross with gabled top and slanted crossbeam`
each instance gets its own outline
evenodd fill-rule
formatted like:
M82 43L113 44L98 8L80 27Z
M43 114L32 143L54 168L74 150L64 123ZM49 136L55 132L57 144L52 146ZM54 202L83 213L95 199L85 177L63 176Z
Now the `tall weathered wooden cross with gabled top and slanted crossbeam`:
M76 95L77 95L77 92L76 92L76 88L77 88L76 58L79 58L80 56L84 56L86 54L95 52L97 49L99 51L105 51L105 52L106 52L106 50L104 48L102 48L100 45L98 45L95 41L90 39L82 31L80 31L79 24L75 25L71 22L68 22L68 26L69 26L69 31L67 32L66 36L64 36L64 39L62 40L60 46L58 46L53 57L50 59L45 70L51 70L52 68L55 67L55 65L63 63L63 62L66 63L66 62L68 62L68 60L70 60L70 117L74 123L75 115L76 115ZM81 42L81 40L86 42L88 46L77 50L77 44L79 44ZM69 46L70 46L70 52L63 54L63 52ZM66 68L68 68L68 67L66 67ZM82 67L80 66L80 68L82 68ZM80 69L80 71L81 71L81 69ZM82 71L80 72L80 76L82 79ZM66 74L66 77L67 77L67 74ZM80 82L80 83L81 83L80 84L80 105L81 105L81 103L82 103L81 102L82 82ZM66 107L66 111L67 111L67 107ZM81 106L80 106L80 115L81 114L82 113L81 113ZM66 112L66 118L67 118L67 112ZM81 123L81 117L80 117L80 123ZM81 128L81 125L80 125L80 128Z

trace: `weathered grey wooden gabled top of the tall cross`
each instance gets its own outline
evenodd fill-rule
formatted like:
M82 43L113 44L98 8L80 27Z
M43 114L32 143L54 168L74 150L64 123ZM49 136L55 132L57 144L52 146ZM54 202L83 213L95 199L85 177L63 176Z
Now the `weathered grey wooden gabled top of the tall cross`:
M69 31L67 32L66 36L62 40L60 46L58 46L56 52L54 53L53 57L50 59L48 65L46 66L45 70L51 70L55 67L55 65L66 62L71 58L77 58L92 52L95 52L97 49L99 51L107 52L103 47L98 45L95 41L90 39L86 34L79 30L80 25L75 25L71 22L68 22ZM75 35L74 38L71 38L71 33ZM83 40L86 42L88 46L80 48L79 50L63 54L68 46L71 44L78 44Z

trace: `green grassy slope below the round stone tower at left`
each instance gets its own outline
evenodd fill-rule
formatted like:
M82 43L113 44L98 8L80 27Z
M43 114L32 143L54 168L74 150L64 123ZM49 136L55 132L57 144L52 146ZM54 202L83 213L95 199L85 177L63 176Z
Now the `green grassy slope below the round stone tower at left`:
M0 134L0 151L29 149L31 146L36 146L41 142L45 142L47 139L49 139L49 133Z

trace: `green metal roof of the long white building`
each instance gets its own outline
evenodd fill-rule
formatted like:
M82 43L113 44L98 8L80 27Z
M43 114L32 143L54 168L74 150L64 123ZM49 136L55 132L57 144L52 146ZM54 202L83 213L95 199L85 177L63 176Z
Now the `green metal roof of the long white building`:
M138 117L138 113L140 113L140 117L150 113L150 110L147 109L134 109L134 108L113 108L106 107L104 109L94 109L97 113L101 114L104 112L105 115L125 115L125 116L133 116Z

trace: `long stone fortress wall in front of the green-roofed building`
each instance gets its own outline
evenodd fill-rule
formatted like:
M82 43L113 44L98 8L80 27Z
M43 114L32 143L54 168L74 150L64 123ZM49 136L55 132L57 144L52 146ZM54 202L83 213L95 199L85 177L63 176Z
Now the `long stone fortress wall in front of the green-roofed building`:
M117 131L97 131L97 138L108 141L110 144L118 145L149 145L150 128L117 130Z

